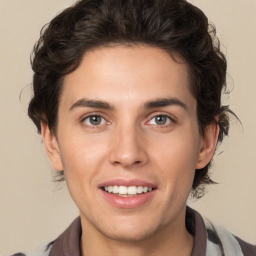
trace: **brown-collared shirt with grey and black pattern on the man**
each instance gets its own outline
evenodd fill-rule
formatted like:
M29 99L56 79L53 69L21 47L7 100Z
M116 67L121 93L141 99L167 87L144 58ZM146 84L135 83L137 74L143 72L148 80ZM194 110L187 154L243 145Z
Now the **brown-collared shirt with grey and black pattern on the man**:
M186 207L185 225L194 237L190 256L256 256L256 246L232 235L223 227L204 220L197 211L188 206ZM54 241L31 256L80 256L81 234L81 219L77 217ZM30 255L16 253L12 256Z

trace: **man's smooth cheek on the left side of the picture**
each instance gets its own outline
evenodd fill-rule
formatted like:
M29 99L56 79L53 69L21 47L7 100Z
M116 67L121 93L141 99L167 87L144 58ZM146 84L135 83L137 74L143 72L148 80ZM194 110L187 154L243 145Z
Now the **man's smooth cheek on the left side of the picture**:
M95 192L95 179L105 159L105 150L84 136L78 138L69 137L62 142L60 153L68 191L77 207L84 209Z

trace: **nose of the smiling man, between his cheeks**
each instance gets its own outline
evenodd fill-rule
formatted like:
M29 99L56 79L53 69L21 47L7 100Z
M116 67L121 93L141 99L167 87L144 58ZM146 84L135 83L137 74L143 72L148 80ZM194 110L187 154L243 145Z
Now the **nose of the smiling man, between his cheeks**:
M115 130L109 160L112 164L125 168L142 166L148 161L143 135L135 125Z

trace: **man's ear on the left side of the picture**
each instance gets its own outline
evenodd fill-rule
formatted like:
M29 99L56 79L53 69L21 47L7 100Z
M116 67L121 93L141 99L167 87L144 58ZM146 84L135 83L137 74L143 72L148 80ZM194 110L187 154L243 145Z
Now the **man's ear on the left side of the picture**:
M50 131L48 124L43 121L41 121L41 135L46 153L53 168L59 171L63 170L57 139Z

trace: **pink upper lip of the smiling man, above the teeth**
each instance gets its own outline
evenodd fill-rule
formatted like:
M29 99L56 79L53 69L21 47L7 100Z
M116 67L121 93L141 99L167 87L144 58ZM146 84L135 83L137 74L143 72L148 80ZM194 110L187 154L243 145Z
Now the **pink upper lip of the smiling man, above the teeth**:
M150 182L147 182L145 180L140 180L140 179L123 179L123 178L115 178L115 179L110 179L105 182L102 182L99 184L99 187L103 186L147 186L147 187L156 187L155 184L152 184Z

